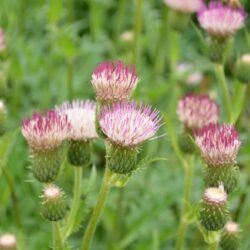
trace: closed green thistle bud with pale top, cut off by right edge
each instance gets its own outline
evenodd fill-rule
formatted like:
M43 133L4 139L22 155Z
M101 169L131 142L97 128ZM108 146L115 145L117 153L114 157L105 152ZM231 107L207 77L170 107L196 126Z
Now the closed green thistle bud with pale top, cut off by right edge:
M235 69L236 77L242 83L250 83L250 54L238 59Z

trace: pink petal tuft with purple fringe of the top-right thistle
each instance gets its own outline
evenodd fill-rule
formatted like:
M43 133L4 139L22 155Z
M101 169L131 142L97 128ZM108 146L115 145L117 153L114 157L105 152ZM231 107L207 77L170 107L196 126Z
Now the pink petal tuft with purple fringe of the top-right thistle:
M247 17L243 8L234 8L213 1L199 10L198 20L203 29L216 38L228 38L244 26Z

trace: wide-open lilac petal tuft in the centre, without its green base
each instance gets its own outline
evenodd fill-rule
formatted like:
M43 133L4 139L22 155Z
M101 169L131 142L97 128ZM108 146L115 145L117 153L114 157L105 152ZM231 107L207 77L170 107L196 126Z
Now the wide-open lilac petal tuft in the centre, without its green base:
M132 148L153 137L160 121L159 112L150 106L117 102L103 107L99 123L112 144Z

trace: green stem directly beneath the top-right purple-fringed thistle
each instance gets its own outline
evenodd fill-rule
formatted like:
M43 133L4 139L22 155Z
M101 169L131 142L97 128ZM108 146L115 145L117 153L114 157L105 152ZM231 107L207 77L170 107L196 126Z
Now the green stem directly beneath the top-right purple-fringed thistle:
M216 77L220 83L223 98L224 98L224 105L226 107L227 119L229 122L232 122L231 116L231 98L229 94L228 84L225 77L224 66L222 64L214 64L214 70L216 73Z

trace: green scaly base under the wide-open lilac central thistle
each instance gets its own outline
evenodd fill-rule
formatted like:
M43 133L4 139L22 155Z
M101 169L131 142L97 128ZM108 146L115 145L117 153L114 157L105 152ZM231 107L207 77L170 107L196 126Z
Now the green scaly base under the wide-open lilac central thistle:
M110 144L108 146L107 160L110 170L117 174L129 174L137 165L138 151L134 148L122 148Z

